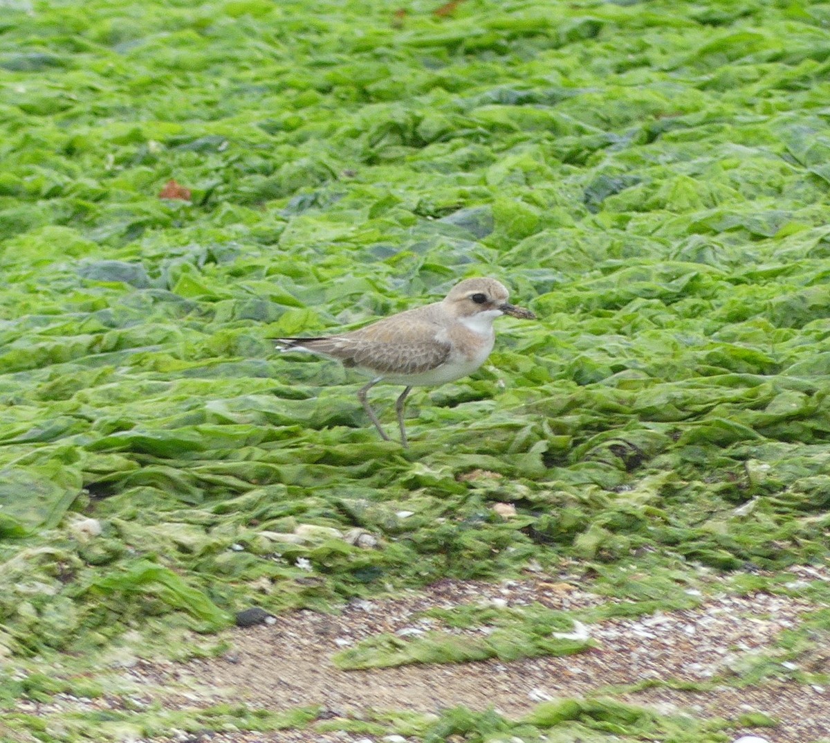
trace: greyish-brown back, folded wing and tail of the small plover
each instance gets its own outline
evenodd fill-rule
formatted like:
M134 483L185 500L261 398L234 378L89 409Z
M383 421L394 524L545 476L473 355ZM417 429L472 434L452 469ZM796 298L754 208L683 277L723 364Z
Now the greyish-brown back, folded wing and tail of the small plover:
M440 367L450 355L449 343L436 340L439 330L420 317L403 321L398 315L342 335L281 338L279 342L286 349L337 358L347 367L364 367L379 374L419 374Z

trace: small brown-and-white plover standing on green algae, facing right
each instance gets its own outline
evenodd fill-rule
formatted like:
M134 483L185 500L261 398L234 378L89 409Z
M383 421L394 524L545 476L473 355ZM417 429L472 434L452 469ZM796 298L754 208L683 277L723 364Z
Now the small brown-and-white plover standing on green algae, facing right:
M508 292L495 278L466 278L441 302L427 304L352 332L314 338L277 338L282 351L307 351L343 362L371 377L358 399L384 440L367 393L379 381L403 385L395 403L401 443L408 445L403 404L415 386L434 386L460 379L481 367L496 340L493 320L499 315L535 319L525 308L507 303Z

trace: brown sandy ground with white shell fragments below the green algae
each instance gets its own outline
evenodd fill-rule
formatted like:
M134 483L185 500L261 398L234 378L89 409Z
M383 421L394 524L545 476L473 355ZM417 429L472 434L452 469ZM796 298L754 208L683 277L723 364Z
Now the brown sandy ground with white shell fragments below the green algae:
M339 650L377 632L405 636L437 628L435 620L419 616L429 607L540 602L567 609L606 600L569 583L540 579L496 585L447 581L402 598L353 602L339 616L300 611L278 617L270 625L236 629L227 634L232 647L222 657L183 664L142 662L129 669L129 676L148 696L163 687L165 704L173 706L198 706L218 699L271 710L320 705L321 718L328 722L360 716L369 709L438 712L455 705L474 710L495 706L516 718L539 701L608 693L603 692L608 685L645 679L729 678L754 655L769 650L780 632L798 626L803 613L813 608L797 598L768 593L720 595L692 610L591 624L588 629L598 647L571 657L369 671L340 671L331 662ZM821 657L819 653L809 663L812 667L805 670L830 672L830 654ZM769 743L830 741L830 686L787 680L786 672L778 679L745 688L723 683L713 691L651 688L628 694L613 692L613 696L654 706L662 713L686 713L697 719L735 721L747 712L758 711L779 721L774 728L735 731L735 738L754 733ZM346 733L281 731L205 734L188 740L348 743L372 739Z

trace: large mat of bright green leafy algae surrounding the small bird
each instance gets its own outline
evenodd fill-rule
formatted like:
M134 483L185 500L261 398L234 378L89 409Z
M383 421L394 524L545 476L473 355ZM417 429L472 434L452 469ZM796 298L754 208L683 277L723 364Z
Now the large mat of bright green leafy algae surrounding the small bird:
M823 4L7 6L0 650L828 558ZM272 346L468 275L540 321L417 392L408 452Z

